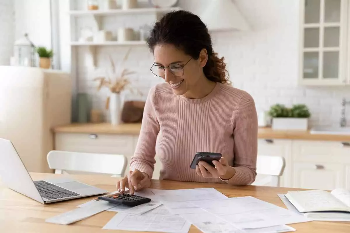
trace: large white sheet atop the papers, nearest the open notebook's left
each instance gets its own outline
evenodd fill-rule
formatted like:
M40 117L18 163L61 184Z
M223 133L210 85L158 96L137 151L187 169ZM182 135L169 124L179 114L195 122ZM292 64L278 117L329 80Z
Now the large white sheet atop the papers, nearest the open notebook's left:
M241 229L310 221L304 216L251 196L193 203Z

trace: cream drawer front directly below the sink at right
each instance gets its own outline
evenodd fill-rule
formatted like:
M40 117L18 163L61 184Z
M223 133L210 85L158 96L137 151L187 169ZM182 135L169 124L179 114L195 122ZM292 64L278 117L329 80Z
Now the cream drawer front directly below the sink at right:
M295 140L292 149L294 161L350 164L350 146L340 141Z

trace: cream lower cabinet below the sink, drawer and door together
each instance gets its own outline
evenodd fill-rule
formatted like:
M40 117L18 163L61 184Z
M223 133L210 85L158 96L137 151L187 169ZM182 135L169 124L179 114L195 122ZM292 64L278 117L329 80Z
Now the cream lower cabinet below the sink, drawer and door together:
M346 187L345 165L350 165L350 147L339 141L293 140L294 188Z

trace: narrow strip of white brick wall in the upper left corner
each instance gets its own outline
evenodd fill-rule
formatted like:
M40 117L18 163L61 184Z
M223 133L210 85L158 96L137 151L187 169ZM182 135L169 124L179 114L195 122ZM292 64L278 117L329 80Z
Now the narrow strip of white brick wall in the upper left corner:
M0 0L0 32L0 65L9 65L14 41L12 0Z

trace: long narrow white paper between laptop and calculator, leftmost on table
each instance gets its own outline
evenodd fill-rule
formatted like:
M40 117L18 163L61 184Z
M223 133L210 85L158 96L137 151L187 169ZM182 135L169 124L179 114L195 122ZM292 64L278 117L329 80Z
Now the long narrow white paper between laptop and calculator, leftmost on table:
M114 206L115 204L112 204L109 202L103 202L103 203L95 202L85 207L80 207L80 208L59 214L57 216L48 218L45 220L45 222L67 225L67 224L71 224L76 221L85 219L87 217L90 217L104 210L108 210Z

